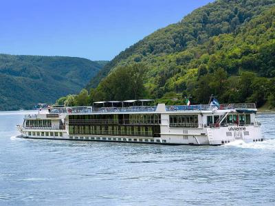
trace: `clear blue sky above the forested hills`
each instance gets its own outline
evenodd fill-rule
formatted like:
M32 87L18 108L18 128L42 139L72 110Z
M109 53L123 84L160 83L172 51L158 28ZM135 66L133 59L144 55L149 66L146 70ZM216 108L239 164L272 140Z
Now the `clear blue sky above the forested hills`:
M214 0L6 0L0 53L111 60Z

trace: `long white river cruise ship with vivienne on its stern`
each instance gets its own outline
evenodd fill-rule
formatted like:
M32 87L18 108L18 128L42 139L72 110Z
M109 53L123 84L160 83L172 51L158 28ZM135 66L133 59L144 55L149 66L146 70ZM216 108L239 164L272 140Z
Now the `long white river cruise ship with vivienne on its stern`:
M219 146L263 141L255 104L166 106L103 105L42 108L17 128L28 139ZM105 103L105 105L104 105ZM108 104L109 106L106 106Z

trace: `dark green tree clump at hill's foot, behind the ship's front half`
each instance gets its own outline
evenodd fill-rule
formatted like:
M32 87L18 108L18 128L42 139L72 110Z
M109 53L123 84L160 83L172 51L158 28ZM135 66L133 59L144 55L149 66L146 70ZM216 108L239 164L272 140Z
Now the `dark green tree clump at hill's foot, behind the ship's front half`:
M140 99L146 95L145 73L146 67L140 64L118 67L109 74L108 78L100 82L97 89L91 89L90 94L86 89L83 89L78 95L67 95L59 98L56 104L84 106L91 105L98 100Z

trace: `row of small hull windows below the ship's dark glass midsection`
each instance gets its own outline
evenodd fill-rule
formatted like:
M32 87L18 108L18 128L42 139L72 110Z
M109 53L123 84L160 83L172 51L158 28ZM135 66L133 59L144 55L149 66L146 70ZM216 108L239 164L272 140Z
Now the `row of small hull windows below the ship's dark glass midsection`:
M121 137L73 137L69 136L69 139L80 140L100 140L100 141L131 141L131 142L156 142L160 143L159 139L141 139L141 138L121 138ZM162 143L166 143L165 139L162 139Z

